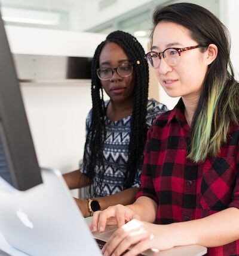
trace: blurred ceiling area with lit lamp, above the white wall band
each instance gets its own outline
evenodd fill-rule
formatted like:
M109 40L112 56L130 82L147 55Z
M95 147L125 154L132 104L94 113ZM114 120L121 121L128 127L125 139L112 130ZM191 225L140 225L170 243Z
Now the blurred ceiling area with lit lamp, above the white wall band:
M226 1L226 0L225 0ZM121 29L136 37L148 37L157 5L167 0L2 0L7 25L108 34ZM220 0L188 1L202 5L221 17Z

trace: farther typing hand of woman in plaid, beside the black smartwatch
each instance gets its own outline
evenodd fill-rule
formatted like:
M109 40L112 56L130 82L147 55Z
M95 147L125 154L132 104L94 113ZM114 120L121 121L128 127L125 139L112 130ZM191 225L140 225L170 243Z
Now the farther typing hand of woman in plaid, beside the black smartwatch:
M99 210L94 212L93 219L90 225L91 231L105 231L106 225L118 225L121 227L131 219L139 219L139 215L133 210L133 207L123 206L117 204L115 206L109 206L105 210Z

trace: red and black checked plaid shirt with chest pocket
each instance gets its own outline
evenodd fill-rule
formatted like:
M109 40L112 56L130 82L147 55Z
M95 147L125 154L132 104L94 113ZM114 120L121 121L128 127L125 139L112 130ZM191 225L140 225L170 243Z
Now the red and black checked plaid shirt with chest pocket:
M239 126L231 125L228 141L217 157L195 164L186 158L190 128L184 108L180 99L173 110L158 116L148 131L137 197L145 195L158 204L157 224L239 208ZM239 240L209 248L207 255L239 255Z

